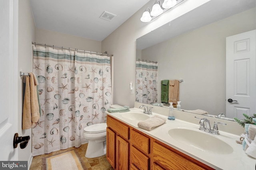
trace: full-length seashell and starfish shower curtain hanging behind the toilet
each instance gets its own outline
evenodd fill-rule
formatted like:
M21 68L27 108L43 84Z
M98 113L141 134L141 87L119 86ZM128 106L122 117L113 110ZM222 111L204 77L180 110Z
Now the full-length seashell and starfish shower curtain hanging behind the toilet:
M33 45L33 60L41 116L32 127L32 155L80 147L84 127L106 123L110 57Z

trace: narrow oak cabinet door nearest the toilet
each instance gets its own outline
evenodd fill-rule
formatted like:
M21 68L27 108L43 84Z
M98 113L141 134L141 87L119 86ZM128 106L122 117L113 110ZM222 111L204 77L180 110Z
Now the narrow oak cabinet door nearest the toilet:
M116 144L116 134L107 128L107 152L106 158L110 165L115 168L115 144Z

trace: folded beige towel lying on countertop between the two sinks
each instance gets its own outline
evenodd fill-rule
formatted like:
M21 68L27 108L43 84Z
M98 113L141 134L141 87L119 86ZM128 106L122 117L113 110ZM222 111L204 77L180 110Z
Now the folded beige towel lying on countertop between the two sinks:
M154 115L153 117L150 117L144 121L139 121L138 127L151 131L155 127L162 125L164 122L166 122L164 117Z

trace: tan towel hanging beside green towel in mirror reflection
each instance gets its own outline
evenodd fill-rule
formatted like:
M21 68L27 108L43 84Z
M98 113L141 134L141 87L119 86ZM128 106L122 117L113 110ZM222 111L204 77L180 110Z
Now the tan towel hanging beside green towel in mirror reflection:
M177 106L180 94L180 81L179 80L169 80L169 95L168 103L172 102L173 106Z

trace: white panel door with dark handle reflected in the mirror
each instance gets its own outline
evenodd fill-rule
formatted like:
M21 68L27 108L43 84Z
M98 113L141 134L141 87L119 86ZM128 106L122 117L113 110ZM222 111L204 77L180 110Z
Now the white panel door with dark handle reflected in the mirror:
M256 113L255 41L256 30L226 38L227 117L244 119L243 113Z

